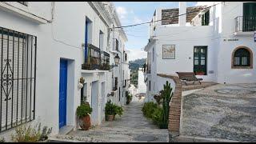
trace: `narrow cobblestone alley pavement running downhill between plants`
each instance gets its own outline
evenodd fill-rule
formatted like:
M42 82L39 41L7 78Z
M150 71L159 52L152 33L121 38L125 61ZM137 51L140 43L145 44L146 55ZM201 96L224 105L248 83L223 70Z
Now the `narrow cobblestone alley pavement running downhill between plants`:
M131 102L114 122L103 122L102 126L87 131L76 130L56 138L73 142L169 142L167 129L158 129L143 117L142 105L143 102Z

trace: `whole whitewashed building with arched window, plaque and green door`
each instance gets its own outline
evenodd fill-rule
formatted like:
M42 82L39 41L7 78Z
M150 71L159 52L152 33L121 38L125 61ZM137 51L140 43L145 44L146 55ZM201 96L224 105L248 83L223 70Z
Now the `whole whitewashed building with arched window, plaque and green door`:
M256 82L255 18L256 2L179 2L176 9L155 10L145 46L150 99L162 90L157 74L195 72L208 82Z

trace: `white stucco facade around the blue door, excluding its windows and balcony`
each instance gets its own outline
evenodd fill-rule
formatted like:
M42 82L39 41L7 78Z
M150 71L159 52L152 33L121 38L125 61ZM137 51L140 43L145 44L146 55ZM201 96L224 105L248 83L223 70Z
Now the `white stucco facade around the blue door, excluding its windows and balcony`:
M74 126L74 130L79 127L75 114L81 102L79 78L85 78L84 92L86 91L87 102L93 108L93 125L100 125L105 119L104 107L107 98L111 97L108 94L113 90L114 77L118 77L121 94L126 90L122 89L121 70L125 70L125 75L130 74L126 66L123 66L120 54L121 62L113 69L82 70L85 62L85 48L82 45L85 43L86 18L90 18L92 22L90 43L110 54L110 65L114 64L116 55L111 42L113 38L121 39L120 51L123 54L127 38L123 31L117 32L118 36L113 37L113 33L111 34L110 27L114 21L111 20L111 13L105 11L107 6L109 5L105 6L102 2L28 2L27 6L18 2L0 2L1 27L37 37L35 118L32 122L42 122L43 126L53 127L52 134L58 134L60 130L58 116L61 59L68 62L66 126ZM118 19L118 15L112 17ZM121 25L119 23L114 26ZM99 31L103 33L102 43L99 42ZM118 99L118 92L111 98ZM115 102L121 104L119 101ZM125 103L124 100L121 102L122 105ZM13 130L14 128L6 130L0 135Z

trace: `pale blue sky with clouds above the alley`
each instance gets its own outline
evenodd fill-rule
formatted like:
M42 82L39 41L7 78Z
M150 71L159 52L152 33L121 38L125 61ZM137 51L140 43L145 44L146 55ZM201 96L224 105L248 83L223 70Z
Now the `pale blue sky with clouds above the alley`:
M187 6L195 6L196 2L187 2ZM178 8L178 2L114 2L122 26L149 22L157 8ZM128 37L126 49L130 50L130 60L146 58L141 50L148 42L149 25L124 28Z

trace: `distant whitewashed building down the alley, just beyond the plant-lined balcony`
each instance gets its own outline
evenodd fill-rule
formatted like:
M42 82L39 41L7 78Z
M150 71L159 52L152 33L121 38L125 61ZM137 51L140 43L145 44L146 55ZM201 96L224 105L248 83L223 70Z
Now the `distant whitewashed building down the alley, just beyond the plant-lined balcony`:
M127 82L130 76L130 71L127 69L128 54L126 53L125 43L127 42L127 36L122 28L118 28L121 22L118 18L118 14L114 8L113 2L104 2L106 11L112 20L110 25L110 38L109 38L109 52L110 59L114 60L114 57L118 55L120 62L118 66L115 66L112 71L112 95L109 97L111 102L117 103L119 106L126 104L126 91L128 90ZM116 28L117 27L117 28ZM111 62L110 62L111 63ZM114 62L112 62L114 64ZM111 86L111 85L110 85ZM113 95L114 94L114 95Z

